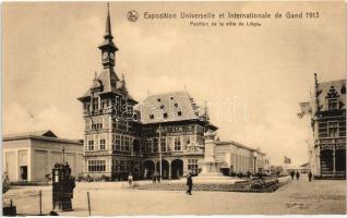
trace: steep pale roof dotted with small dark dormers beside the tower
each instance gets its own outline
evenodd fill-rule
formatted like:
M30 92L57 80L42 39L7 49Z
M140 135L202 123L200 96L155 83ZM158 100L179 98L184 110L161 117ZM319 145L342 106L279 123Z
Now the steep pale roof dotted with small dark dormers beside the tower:
M198 120L201 111L186 90L147 96L136 107L143 124Z

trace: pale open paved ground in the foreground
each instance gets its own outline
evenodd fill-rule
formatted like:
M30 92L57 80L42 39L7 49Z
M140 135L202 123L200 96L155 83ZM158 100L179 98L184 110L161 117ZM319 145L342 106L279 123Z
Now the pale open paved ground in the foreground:
M345 181L313 181L306 177L274 193L139 191L122 189L127 183L80 183L73 211L61 215L87 216L86 193L91 194L92 215L283 215L346 214ZM15 187L4 195L13 198L20 214L38 214L39 190L43 210L51 209L51 187Z

